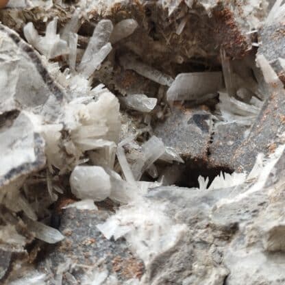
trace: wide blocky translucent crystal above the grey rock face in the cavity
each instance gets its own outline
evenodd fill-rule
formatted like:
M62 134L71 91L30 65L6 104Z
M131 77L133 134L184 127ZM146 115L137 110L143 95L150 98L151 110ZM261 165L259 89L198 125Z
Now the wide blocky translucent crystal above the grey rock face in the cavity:
M223 86L221 72L180 73L167 90L169 101L196 101Z

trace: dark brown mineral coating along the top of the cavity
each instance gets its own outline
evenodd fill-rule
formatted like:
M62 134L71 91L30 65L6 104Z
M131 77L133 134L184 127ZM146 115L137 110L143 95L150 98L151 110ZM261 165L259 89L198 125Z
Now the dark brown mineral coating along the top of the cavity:
M42 21L44 18L49 21L58 16L59 26L62 27L69 21L73 11L73 5L64 10L54 5L47 11L40 8L23 8L17 12L18 18L22 18L24 23L32 21L38 32L42 33L46 27L46 23ZM175 20L175 15L179 11L188 17L181 35L176 34L179 22ZM143 5L139 1L126 1L126 5L116 3L102 14L96 10L88 12L88 21L82 19L79 36L91 36L94 23L102 17L110 18L114 24L124 18L136 19L139 24L138 29L121 44L125 49L134 49L132 51L136 51L143 62L172 76L183 72L180 69L185 68L186 64L188 67L191 66L189 60L192 58L203 58L213 68L217 63L216 56L219 55L221 47L234 58L243 57L251 48L249 37L239 27L232 10L224 3L216 5L211 17L199 2L192 10L182 3L171 17L168 16L168 10L157 5L155 1L145 1ZM0 12L0 21L22 34L23 27L16 24L9 11ZM184 67L179 66L177 58L183 62Z

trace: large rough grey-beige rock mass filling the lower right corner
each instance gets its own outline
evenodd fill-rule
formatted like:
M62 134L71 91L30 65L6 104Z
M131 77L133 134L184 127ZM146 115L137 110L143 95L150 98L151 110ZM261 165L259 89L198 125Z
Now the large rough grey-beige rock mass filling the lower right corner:
M189 232L149 264L147 284L282 284L284 195L248 187L151 191L149 199L167 203Z

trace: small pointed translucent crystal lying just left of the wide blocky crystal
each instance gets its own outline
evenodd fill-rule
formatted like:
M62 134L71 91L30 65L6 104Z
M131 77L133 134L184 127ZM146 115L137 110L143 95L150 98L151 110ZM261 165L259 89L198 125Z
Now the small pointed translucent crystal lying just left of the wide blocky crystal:
M131 109L147 113L151 112L151 110L156 107L158 99L149 98L144 94L137 94L121 97L121 101L123 101L123 103L125 103L125 105Z

